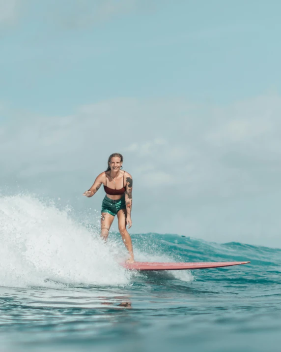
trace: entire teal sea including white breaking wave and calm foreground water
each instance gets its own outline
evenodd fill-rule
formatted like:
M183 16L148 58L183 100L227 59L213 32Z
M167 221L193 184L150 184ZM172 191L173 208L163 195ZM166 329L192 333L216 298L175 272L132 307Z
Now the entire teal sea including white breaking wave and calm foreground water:
M126 271L119 234L105 244L67 209L1 197L0 352L281 351L281 249L176 234L132 240L140 261L251 264Z

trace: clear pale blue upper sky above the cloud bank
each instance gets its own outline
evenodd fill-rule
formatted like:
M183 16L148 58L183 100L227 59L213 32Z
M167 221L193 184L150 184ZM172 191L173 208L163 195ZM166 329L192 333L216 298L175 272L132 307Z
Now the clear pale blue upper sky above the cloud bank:
M115 8L16 2L1 26L1 100L68 114L117 96L224 104L280 92L280 1L105 3Z

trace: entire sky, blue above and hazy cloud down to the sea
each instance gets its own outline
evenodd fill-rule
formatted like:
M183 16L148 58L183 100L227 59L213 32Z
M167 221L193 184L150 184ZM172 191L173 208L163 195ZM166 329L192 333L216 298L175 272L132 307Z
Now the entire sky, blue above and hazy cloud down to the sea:
M133 233L281 248L280 13L0 0L0 192L99 211L82 193L122 153Z

